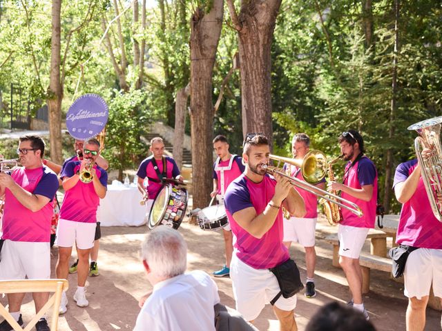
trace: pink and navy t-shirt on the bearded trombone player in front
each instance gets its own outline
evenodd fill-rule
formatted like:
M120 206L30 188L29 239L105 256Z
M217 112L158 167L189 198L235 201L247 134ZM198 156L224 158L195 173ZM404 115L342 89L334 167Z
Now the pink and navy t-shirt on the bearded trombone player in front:
M241 228L232 215L249 207L255 208L257 215L262 214L275 194L275 186L275 179L268 174L260 183L253 183L242 174L231 182L224 197L227 217L236 237L234 247L237 257L255 269L273 268L289 259L289 251L282 244L282 209L279 210L275 223L261 239Z

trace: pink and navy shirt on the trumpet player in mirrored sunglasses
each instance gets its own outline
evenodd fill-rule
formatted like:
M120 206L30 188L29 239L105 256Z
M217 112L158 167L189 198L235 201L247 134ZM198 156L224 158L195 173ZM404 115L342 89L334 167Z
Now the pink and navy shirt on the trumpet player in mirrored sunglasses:
M70 161L66 164L61 179L64 177L73 177L80 170L81 161ZM99 182L107 188L108 173L97 164L93 165ZM99 206L99 197L95 192L93 183L83 183L78 181L77 184L64 194L63 203L60 208L60 219L75 221L80 223L96 223L97 208Z

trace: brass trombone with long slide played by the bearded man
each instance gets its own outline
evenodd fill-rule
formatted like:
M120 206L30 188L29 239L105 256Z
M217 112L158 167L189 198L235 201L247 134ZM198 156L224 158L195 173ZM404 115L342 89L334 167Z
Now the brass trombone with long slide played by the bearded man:
M322 199L330 201L331 203L336 203L336 205L340 206L340 208L345 208L356 214L358 217L363 215L361 208L359 208L356 203L314 186L322 181L325 174L327 174L328 162L327 157L325 157L323 152L320 152L319 150L311 150L302 160L289 159L288 157L278 157L277 155L272 154L270 154L269 157L271 160L278 161L276 167L273 165L262 166L262 168L265 168L270 174L279 174L280 176L286 177L290 179L290 183L295 185L297 188L301 188L302 190L313 193ZM295 165L296 167L300 168L302 177L305 179L305 181L301 181L296 177L291 177L285 174L285 172L281 171L281 162Z

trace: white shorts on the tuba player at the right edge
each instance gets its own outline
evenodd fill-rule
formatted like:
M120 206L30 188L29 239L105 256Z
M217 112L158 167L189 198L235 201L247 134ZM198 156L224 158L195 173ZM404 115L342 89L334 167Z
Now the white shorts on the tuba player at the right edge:
M405 297L422 299L430 295L442 298L442 250L419 248L410 253L403 272Z

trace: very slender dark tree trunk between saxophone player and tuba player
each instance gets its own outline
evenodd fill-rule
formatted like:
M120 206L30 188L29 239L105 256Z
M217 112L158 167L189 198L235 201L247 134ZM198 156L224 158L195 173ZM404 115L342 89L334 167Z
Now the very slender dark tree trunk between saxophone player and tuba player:
M397 112L397 80L398 80L398 48L399 48L399 0L394 0L394 56L393 56L393 74L392 74L392 102L390 107L390 119L388 121L388 140L393 141L394 136L394 116ZM385 167L385 186L384 186L384 206L385 210L390 210L390 192L393 177L393 149L387 149L387 164Z

